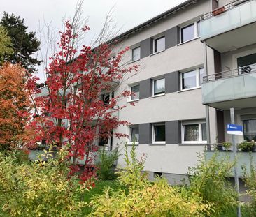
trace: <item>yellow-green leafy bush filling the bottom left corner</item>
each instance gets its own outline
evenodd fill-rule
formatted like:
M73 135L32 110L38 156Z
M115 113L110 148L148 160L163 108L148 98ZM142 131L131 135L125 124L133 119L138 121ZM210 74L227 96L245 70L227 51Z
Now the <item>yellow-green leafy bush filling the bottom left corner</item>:
M0 153L0 216L80 216L83 189L59 160L19 164Z

